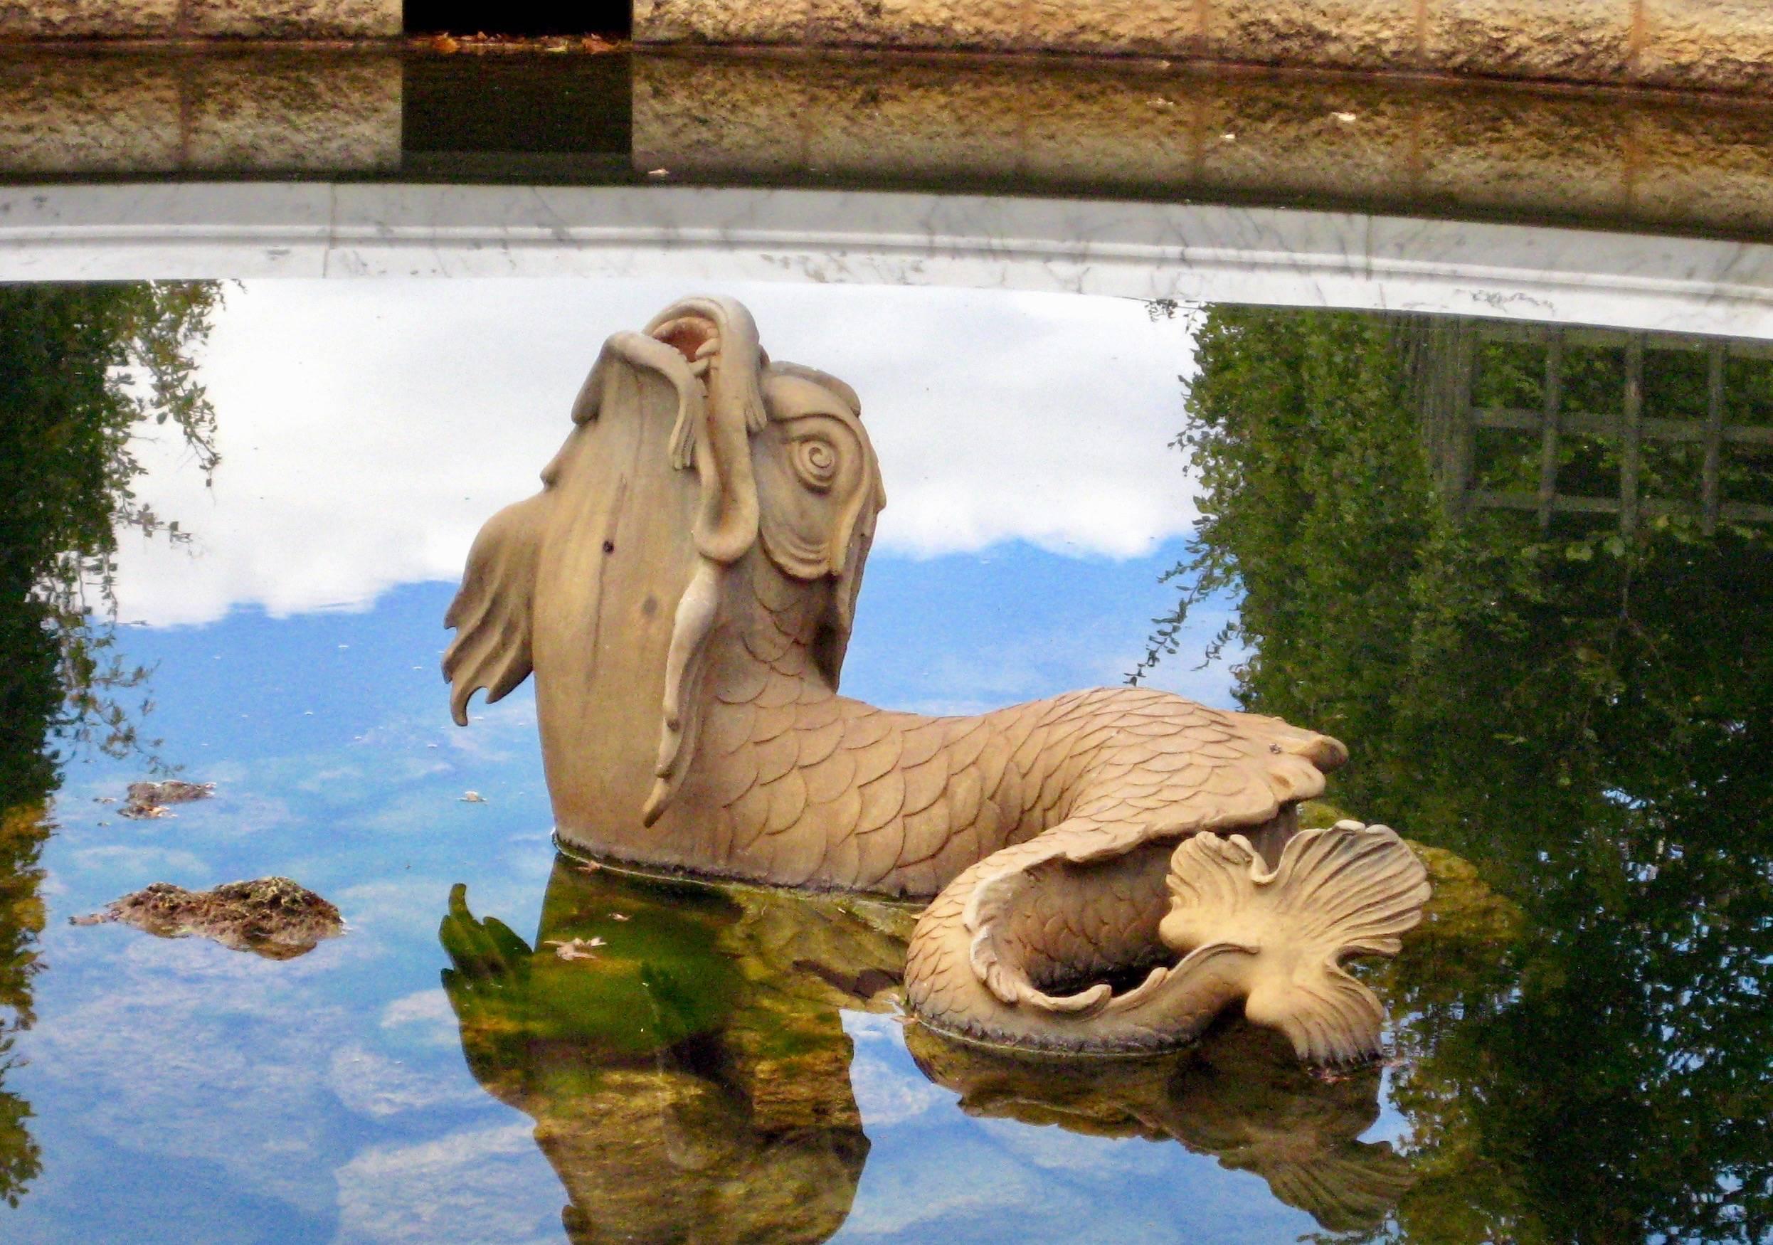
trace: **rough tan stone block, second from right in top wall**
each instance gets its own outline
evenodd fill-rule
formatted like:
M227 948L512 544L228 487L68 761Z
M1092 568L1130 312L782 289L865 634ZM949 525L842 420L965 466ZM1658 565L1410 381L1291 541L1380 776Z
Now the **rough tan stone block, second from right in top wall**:
M1434 69L1622 82L1629 76L1628 0L1429 0L1424 62Z

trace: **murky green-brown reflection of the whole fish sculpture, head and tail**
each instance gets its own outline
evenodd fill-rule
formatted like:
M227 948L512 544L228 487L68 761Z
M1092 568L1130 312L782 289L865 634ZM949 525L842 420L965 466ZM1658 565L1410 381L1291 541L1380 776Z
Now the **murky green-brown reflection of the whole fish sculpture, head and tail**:
M858 1108L840 1011L892 1011L911 920L904 904L582 873L562 857L534 947L477 919L465 887L438 935L468 1068L535 1119L573 1241L821 1241L847 1220L872 1146L895 1144ZM562 963L546 947L569 938L603 945ZM1378 1066L1319 1077L1239 1023L1172 1055L1082 1066L902 1032L966 1116L1174 1140L1330 1231L1372 1227L1410 1186L1402 1156L1360 1140Z

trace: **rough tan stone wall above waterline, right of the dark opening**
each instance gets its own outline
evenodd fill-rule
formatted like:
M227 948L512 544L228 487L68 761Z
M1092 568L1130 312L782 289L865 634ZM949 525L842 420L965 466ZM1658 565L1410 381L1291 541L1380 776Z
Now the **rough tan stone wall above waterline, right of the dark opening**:
M1073 51L1773 90L1764 0L635 0L638 43Z

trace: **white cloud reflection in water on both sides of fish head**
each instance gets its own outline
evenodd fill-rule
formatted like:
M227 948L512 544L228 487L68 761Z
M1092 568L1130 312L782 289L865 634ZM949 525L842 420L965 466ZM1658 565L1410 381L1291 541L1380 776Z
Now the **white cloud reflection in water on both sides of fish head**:
M144 493L197 553L126 541L126 619L207 622L362 607L456 578L475 530L535 491L603 339L676 284L257 282L202 358L223 468L206 491L172 438ZM878 555L1028 541L1133 557L1186 532L1163 450L1191 367L1184 319L1138 301L1005 291L755 286L773 355L863 399L892 505Z

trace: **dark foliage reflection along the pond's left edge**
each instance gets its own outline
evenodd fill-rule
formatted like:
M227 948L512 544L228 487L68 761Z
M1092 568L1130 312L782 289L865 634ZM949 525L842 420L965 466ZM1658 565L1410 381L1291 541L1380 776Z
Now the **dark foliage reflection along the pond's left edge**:
M73 750L145 754L147 670L115 647L117 532L184 539L135 493L138 438L179 436L213 472L191 349L215 284L0 287L0 1078L41 968L43 844ZM39 1171L30 1107L0 1091L0 1199Z

